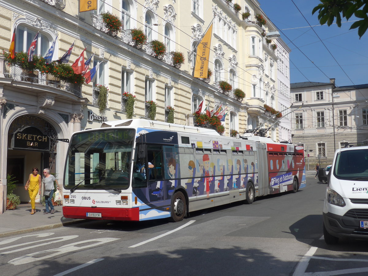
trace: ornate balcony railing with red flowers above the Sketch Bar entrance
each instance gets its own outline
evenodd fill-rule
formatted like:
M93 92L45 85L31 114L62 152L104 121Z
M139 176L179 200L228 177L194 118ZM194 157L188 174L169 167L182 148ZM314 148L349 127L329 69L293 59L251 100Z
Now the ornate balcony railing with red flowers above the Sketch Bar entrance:
M8 66L5 62L3 64L5 78L33 84L51 86L82 97L82 88L79 85L63 81L60 78L56 78L50 74L43 74L39 71L24 70L18 66Z

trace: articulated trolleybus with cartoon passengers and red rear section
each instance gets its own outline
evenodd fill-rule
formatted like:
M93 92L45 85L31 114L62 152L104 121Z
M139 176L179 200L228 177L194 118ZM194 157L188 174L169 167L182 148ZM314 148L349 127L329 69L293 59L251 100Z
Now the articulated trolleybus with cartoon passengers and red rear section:
M71 137L63 215L180 221L189 211L303 187L302 146L144 119L109 121Z

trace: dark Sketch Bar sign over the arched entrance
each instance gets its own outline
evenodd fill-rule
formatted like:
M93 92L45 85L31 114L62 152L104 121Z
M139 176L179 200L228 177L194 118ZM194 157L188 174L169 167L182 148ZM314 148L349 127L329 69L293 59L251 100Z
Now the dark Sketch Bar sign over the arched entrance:
M50 137L43 134L38 128L26 127L13 134L12 147L16 149L50 150Z

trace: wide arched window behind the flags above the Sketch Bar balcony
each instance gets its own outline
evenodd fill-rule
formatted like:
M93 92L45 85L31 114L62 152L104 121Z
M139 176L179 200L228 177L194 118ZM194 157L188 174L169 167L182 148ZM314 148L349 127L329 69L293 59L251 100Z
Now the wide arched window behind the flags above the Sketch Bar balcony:
M37 31L35 29L31 29L28 26L19 25L17 26L17 30L15 33L15 52L27 52L29 46L32 43L32 40L35 38ZM35 49L35 55L45 56L47 50L50 47L49 38L43 34L42 32L38 35L38 40Z

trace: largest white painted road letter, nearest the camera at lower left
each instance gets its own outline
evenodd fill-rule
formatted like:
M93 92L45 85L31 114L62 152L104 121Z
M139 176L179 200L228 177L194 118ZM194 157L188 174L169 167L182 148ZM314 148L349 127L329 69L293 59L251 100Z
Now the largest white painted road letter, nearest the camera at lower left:
M8 263L11 263L13 265L23 265L25 263L30 263L30 262L47 259L47 258L52 258L57 255L66 254L72 251L78 251L78 250L82 250L85 248L98 246L104 243L110 243L116 240L120 240L120 238L95 238L93 240L78 241L77 243L63 245L59 248L53 248L53 249L48 249L48 250L43 250L43 251L38 251L38 252L31 253L31 254L23 255L18 258L8 261ZM75 246L75 245L84 244L84 243L86 243L87 245ZM37 257L36 255L40 255L40 257Z

